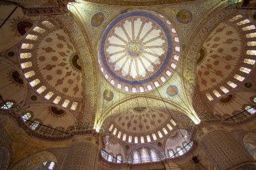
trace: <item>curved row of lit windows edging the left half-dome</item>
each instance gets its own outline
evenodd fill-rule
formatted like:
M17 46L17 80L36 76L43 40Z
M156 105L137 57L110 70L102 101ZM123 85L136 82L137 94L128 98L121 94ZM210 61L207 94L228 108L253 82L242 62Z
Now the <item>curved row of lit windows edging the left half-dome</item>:
M28 82L30 83L30 85L32 87L36 87L36 91L39 94L44 95L44 98L47 100L52 99L55 93L53 93L53 91L47 91L47 88L44 85L37 87L40 84L40 80L32 79L33 77L36 77L36 73L35 71L32 70L33 64L29 60L32 58L32 54L33 54L32 53L33 42L35 40L38 40L38 36L40 34L44 34L47 28L51 29L53 27L54 25L49 21L44 21L41 24L38 24L38 26L34 27L32 29L32 32L28 34L24 39L24 43L22 43L21 53L20 53L20 67L24 71L24 76L26 77L26 79L28 79ZM67 108L69 106L71 110L77 109L77 106L78 106L77 101L71 102L69 101L69 99L63 99L62 103L60 101L61 101L61 98L59 98L59 96L56 96L55 98L53 98L53 103L60 104L63 106L63 108Z

